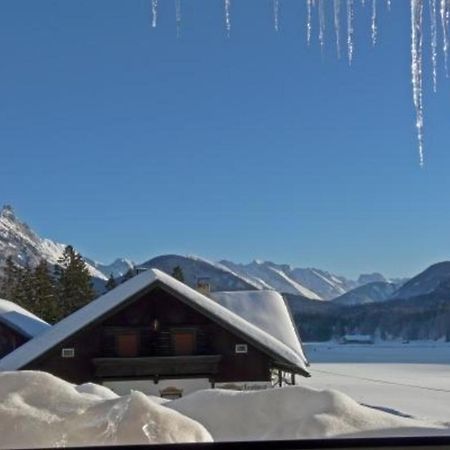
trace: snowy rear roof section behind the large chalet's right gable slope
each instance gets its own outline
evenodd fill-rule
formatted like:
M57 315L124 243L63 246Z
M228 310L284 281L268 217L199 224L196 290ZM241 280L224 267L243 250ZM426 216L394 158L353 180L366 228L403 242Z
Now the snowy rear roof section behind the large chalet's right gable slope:
M213 292L211 297L277 338L306 360L289 307L278 292L270 290Z

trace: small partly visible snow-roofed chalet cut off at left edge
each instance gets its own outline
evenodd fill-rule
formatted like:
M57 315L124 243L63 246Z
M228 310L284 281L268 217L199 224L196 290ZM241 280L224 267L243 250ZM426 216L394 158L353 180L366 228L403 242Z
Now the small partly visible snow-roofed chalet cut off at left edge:
M16 303L0 299L0 358L49 328L48 323Z

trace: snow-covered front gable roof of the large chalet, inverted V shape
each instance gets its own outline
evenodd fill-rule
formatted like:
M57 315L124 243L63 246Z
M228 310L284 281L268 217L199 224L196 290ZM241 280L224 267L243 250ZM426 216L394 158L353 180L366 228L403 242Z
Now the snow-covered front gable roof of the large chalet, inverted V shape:
M95 322L111 309L157 283L168 288L181 301L208 315L212 320L220 322L234 334L243 336L260 350L270 354L278 363L296 368L305 375L308 374L307 361L302 352L294 350L230 309L157 269L149 269L135 276L61 320L45 333L4 357L0 361L0 370L18 370L24 367L80 329Z

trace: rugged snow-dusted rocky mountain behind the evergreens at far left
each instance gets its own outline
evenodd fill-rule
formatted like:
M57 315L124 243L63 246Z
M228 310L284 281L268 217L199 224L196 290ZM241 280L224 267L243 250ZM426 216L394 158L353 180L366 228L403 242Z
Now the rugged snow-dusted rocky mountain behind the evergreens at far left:
M8 257L19 266L36 266L42 259L49 264L57 264L66 244L54 242L38 236L25 222L21 221L11 206L0 210L0 268ZM108 276L87 261L92 277L107 280ZM109 275L109 273L108 273Z

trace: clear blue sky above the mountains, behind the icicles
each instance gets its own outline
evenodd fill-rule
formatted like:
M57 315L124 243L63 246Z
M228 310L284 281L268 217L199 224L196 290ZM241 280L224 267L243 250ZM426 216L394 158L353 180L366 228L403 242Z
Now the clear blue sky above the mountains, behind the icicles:
M450 248L450 96L426 65L418 165L408 2L358 10L351 68L303 1L3 0L0 202L107 262L163 252L411 275ZM331 6L331 1L327 2ZM330 12L330 11L329 11ZM343 26L344 26L343 20ZM345 36L342 36L345 41Z

